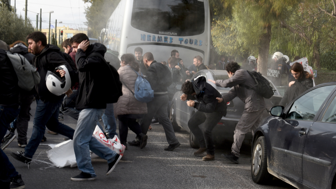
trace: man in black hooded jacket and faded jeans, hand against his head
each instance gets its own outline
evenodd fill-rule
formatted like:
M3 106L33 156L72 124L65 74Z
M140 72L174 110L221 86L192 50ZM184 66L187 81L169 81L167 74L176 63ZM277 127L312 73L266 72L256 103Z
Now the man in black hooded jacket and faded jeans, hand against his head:
M74 35L70 42L76 52L76 65L79 73L76 109L80 112L74 134L74 151L78 169L82 171L71 180L89 181L95 180L96 177L91 163L90 150L107 160L106 175L113 171L122 157L92 137L106 104L117 102L116 99L119 98L120 93L114 80L115 76L104 59L106 47L100 43L90 45L89 38L83 33Z

